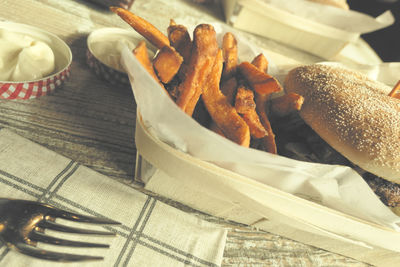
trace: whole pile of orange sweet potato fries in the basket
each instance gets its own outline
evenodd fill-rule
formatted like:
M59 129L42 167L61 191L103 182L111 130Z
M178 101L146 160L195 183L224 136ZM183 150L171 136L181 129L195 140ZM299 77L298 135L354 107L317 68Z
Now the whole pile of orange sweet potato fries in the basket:
M212 25L197 25L192 40L184 25L171 20L166 36L126 9L110 9L158 49L150 59L141 41L133 53L182 111L239 145L277 153L268 114L300 110L303 98L270 97L282 86L267 73L263 54L251 63L239 63L237 41L230 32L220 47Z

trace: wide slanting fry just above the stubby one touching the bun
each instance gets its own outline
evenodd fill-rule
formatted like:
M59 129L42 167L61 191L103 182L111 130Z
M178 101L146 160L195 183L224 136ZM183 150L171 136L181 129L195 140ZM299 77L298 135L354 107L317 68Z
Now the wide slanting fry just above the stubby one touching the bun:
M282 86L271 75L259 70L249 62L242 62L239 70L250 84L250 87L259 94L271 94L282 91Z

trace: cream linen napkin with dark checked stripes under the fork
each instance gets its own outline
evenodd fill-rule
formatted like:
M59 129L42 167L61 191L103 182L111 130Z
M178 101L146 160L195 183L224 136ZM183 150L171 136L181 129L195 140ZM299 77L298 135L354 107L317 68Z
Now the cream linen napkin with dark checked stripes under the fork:
M103 256L103 261L55 263L19 254L0 243L1 266L221 264L226 229L163 204L7 129L0 130L0 184L0 197L39 200L73 212L121 222L117 226L85 225L112 231L115 237L48 232L72 240L106 243L110 245L108 249L39 244L52 251ZM65 220L60 223L77 226Z

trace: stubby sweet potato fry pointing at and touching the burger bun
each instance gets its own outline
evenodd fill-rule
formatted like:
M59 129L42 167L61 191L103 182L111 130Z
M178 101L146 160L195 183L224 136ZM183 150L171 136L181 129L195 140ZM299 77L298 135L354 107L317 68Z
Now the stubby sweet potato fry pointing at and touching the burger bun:
M271 99L271 112L279 117L288 115L293 111L299 111L303 105L304 97L296 93L289 93Z

